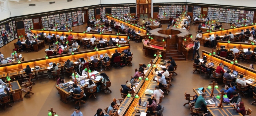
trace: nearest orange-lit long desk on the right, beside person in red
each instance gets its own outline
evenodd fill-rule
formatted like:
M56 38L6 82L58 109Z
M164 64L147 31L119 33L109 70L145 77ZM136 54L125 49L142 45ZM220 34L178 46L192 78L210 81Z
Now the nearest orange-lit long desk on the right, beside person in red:
M214 68L216 70L218 64L222 63L223 65L228 66L228 68L230 70L237 71L238 75L241 75L241 74L244 75L246 80L248 80L248 79L253 79L254 80L254 82L252 82L252 83L247 83L246 82L246 85L248 85L250 87L255 87L256 86L256 77L255 77L256 70L250 69L250 68L248 68L246 66L243 66L241 64L238 64L238 63L231 64L230 60L227 60L225 58L222 58L222 57L220 57L218 55L214 55L214 54L209 55L209 53L210 52L202 50L202 56L206 56L207 61L214 63L214 67L212 67L212 68Z

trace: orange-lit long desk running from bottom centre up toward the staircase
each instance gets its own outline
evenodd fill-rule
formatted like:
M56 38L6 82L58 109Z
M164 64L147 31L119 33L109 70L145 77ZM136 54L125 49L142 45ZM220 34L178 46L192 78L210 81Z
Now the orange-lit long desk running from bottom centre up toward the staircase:
M160 62L161 57L157 56L154 60L153 63L156 63L156 65ZM138 95L142 98L142 100L146 100L146 97L151 97L150 95L144 95L144 92L146 90L146 88L148 87L152 87L154 88L157 83L152 83L151 80L153 80L154 75L152 74L152 69L153 66L151 65L150 67L148 67L148 71L145 74L146 77L149 78L148 81L146 80L141 80L140 84L138 85L138 87L134 90L136 93L138 92ZM145 77L145 78L146 78ZM149 86L151 85L151 86ZM136 94L134 94L135 96ZM124 99L124 101L120 104L119 108L121 108L121 112L119 113L119 116L134 116L133 112L134 112L134 107L136 107L137 103L139 103L139 98L135 98L135 97L127 97ZM136 110L141 110L143 112L147 111L146 107L141 107L139 106L138 109Z

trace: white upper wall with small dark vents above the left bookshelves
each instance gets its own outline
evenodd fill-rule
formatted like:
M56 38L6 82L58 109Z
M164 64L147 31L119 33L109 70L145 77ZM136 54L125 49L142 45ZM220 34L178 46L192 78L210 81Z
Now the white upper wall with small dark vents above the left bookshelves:
M53 1L55 1L55 4L49 4L49 2ZM29 6L29 4L36 4L36 6ZM72 2L67 2L67 0L31 0L9 2L12 17L91 5L100 5L100 0L73 0Z

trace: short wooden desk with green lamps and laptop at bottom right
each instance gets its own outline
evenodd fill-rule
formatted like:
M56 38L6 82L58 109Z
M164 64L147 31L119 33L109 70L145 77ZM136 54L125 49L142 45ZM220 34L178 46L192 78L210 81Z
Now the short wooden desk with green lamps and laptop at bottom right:
M211 95L211 90L212 89L208 89L207 87L204 87L205 89L205 93L206 93L206 99L212 99L212 97L210 97ZM197 92L197 90L199 90L198 88L193 88L193 91L195 92L195 94L197 96L199 96L200 94ZM220 91L216 88L214 88L213 91L213 95L217 96L218 93L220 93ZM218 103L220 103L220 99L217 99ZM207 100L205 100L207 102L207 104L209 104L209 102ZM233 105L228 105L227 103L222 102L222 105L224 106L223 108L220 107L207 107L207 109L209 110L209 112L212 114L212 116L242 116L241 113L237 113L236 110L234 109Z

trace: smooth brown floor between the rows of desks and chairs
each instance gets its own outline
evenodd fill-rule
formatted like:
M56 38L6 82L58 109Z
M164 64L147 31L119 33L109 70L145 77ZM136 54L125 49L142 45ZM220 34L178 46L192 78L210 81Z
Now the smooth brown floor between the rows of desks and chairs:
M147 20L147 19L146 19ZM142 23L142 20L140 20ZM86 25L73 27L74 30L83 31ZM163 25L163 29L166 29L167 25ZM228 28L229 24L223 23L223 28ZM193 39L195 39L195 31L196 27L191 26L190 32L193 34ZM115 32L113 32L115 33ZM14 47L13 42L5 45L0 48L0 52L5 55L5 57L9 57L11 51ZM110 89L112 93L105 94L104 92L96 93L96 99L90 98L86 101L85 104L81 104L81 112L84 116L93 116L96 113L98 108L104 110L105 107L109 106L112 102L112 99L121 98L119 88L121 84L125 84L126 80L130 80L130 75L134 75L134 69L138 68L139 63L147 64L150 59L154 58L153 56L145 57L142 51L142 43L135 43L134 41L130 41L131 44L131 52L133 52L133 66L125 66L120 69L115 69L111 67L111 70L102 71L105 72L112 82L112 86ZM81 49L83 51L86 49ZM87 49L88 50L88 49ZM200 47L200 50L211 51L210 48L205 48L203 46ZM201 52L199 52L201 54ZM40 50L39 52L21 52L18 54L22 54L24 56L24 60L42 58L45 56L44 50ZM191 59L192 54L189 54L189 59ZM164 116L190 116L190 110L188 109L188 105L183 106L187 101L184 99L184 92L187 91L190 94L194 94L192 88L193 87L207 87L210 81L209 77L204 79L203 76L199 76L199 74L192 74L191 60L188 61L176 61L176 64L179 64L177 69L177 76L174 76L175 80L173 80L172 86L170 87L169 95L165 94L163 98L163 102L165 110L163 112ZM239 62L245 66L249 67L249 64ZM118 74L118 75L116 75ZM64 76L65 80L68 80L67 76ZM63 103L60 100L60 95L58 94L57 89L55 88L56 81L45 79L39 79L35 81L36 85L33 85L33 90L35 94L29 97L25 97L24 101L18 103L10 103L13 107L7 106L6 110L0 108L1 115L9 115L9 116L47 116L48 109L53 108L55 112L59 116L70 116L74 112L74 107L78 106L74 104L74 101L69 101L67 104ZM221 89L221 83L218 84L219 89ZM25 93L23 92L23 95ZM251 108L253 110L252 116L256 115L256 105L251 105L250 103L253 101L253 98L245 98L242 97L242 101L245 103L245 108Z

